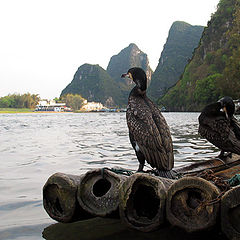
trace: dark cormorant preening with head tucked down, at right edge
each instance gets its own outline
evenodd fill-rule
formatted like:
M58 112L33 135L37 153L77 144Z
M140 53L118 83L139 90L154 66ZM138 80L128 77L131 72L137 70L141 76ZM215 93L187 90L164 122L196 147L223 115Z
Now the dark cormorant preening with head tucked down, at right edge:
M240 125L233 116L235 105L231 97L207 105L200 114L199 134L224 152L240 154Z

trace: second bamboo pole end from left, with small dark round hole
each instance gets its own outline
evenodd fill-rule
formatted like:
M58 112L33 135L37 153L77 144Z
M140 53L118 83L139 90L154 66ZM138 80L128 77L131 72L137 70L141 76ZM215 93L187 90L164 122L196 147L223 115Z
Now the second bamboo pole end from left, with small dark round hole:
M94 216L118 215L119 188L125 179L108 169L88 171L78 185L80 206Z

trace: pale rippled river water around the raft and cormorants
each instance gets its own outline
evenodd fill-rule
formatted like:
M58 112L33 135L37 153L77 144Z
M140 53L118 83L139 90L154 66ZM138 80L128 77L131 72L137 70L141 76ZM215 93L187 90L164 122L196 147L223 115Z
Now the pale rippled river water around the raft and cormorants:
M197 133L199 113L163 115L175 166L217 154ZM53 173L138 167L125 113L0 114L0 163L0 239L6 240L42 239L55 223L42 206L42 187Z

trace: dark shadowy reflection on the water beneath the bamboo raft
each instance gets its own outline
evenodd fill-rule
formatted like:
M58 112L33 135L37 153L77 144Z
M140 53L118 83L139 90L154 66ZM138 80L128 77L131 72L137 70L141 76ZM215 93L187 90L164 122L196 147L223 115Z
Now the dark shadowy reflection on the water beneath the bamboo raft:
M53 224L44 229L43 236L47 240L227 240L216 230L189 234L167 224L157 231L145 233L126 227L119 219L110 218Z

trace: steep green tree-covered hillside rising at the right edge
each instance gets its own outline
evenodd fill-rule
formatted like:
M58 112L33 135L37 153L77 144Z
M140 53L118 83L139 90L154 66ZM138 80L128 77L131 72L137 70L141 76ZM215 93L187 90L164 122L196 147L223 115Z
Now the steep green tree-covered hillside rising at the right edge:
M224 95L239 98L239 23L239 0L221 0L181 79L159 103L170 111L199 111Z

